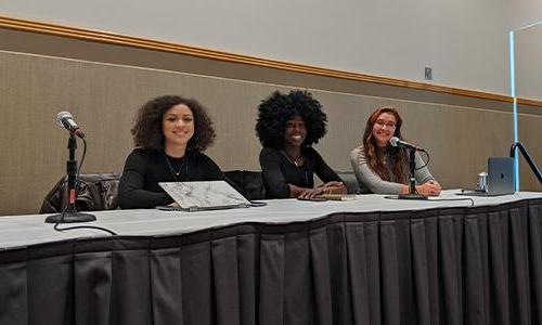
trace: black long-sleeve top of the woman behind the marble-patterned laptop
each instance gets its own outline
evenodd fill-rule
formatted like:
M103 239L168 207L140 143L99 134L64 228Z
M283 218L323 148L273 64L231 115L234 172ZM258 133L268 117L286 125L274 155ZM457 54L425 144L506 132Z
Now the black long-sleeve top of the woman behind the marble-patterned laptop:
M176 176L177 172L179 176ZM136 148L126 159L118 187L118 204L122 209L164 206L171 204L173 199L164 192L158 182L223 179L217 164L196 151L188 150L183 158L173 158L163 151Z

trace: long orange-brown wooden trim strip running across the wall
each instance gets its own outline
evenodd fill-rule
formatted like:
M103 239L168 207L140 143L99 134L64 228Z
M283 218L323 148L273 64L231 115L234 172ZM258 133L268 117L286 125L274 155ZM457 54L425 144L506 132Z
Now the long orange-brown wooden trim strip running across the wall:
M262 58L243 54L228 53L217 50L190 47L190 46L158 41L153 39L144 39L144 38L119 35L108 31L91 30L91 29L83 29L83 28L63 26L50 23L42 23L37 21L0 16L0 28L9 28L9 29L46 34L60 37L68 37L80 40L132 47L132 48L146 49L153 51L169 52L182 55L191 55L202 58L217 60L230 63L240 63L259 67L269 67L269 68L309 74L322 77L379 83L386 86L440 92L440 93L476 98L490 101L499 101L507 103L513 102L513 99L511 96L490 93L490 92L482 92L468 89L429 84L411 80L395 79L388 77L379 77L379 76L351 73L345 70L330 69L324 67ZM518 99L518 103L529 106L542 107L542 101L537 101L537 100Z

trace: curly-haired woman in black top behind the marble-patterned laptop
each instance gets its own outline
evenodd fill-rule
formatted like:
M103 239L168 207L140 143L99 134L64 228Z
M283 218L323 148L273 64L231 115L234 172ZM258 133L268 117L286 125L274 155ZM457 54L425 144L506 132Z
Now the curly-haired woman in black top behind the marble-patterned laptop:
M211 119L197 101L173 95L151 100L139 109L131 132L136 148L126 159L120 178L121 208L173 203L158 182L224 179L217 164L202 154L216 134Z

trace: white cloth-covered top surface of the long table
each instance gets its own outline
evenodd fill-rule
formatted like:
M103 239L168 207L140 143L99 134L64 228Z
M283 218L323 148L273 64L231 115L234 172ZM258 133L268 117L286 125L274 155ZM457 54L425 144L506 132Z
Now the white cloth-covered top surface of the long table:
M455 195L457 190L443 191L439 197L428 200L387 199L384 195L358 195L349 202L301 202L297 199L266 200L264 207L215 211L159 211L156 209L93 211L94 222L67 223L70 225L95 225L109 229L118 235L168 235L219 227L245 222L289 223L318 219L335 212L371 212L424 210L443 207L469 207L472 198L475 207L513 203L522 199L542 198L541 192L519 192L494 197L470 197ZM442 200L438 199L463 199ZM51 243L69 238L104 237L108 233L92 230L70 230L57 232L53 224L44 223L49 214L26 214L0 217L0 250Z

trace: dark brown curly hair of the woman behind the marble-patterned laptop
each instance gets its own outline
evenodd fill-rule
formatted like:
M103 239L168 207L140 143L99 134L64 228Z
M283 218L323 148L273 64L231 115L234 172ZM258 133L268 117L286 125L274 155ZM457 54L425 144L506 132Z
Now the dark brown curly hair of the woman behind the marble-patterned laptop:
M196 100L178 95L155 98L139 108L136 125L131 129L134 145L146 150L164 150L164 132L162 130L164 114L179 104L189 106L194 116L194 135L190 139L186 147L203 152L210 146L217 135L206 108Z

